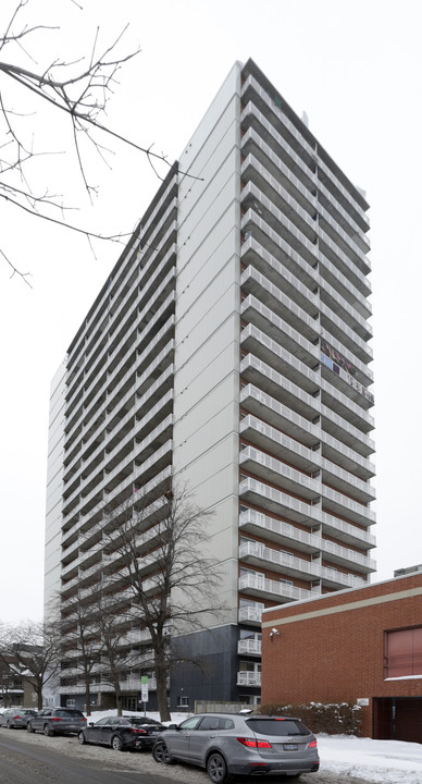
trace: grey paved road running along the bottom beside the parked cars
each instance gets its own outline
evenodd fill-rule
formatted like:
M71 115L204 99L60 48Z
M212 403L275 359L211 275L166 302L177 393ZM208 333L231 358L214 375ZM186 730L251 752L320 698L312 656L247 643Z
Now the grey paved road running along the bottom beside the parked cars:
M236 784L287 784L286 777L239 777ZM191 765L157 765L148 752L116 752L79 746L75 737L27 735L0 731L0 784L210 784L204 771ZM300 784L368 784L334 773L302 775Z

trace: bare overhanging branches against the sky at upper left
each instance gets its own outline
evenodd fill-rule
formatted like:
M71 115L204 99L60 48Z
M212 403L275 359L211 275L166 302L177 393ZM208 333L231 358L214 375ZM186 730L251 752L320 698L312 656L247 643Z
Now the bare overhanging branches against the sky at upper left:
M97 188L88 179L87 163L92 152L102 161L107 160L110 149L104 146L105 139L123 142L142 152L158 176L156 162L177 169L177 164L167 162L166 156L154 152L152 145L141 147L107 127L102 120L108 101L116 88L121 68L140 50L121 50L125 29L111 45L100 48L100 30L97 29L90 52L82 57L75 52L72 61L46 61L34 70L36 60L45 57L46 49L48 52L48 46L40 46L40 34L57 35L60 27L41 21L35 25L27 24L25 10L29 2L16 0L12 17L0 36L0 200L32 216L79 232L89 241L97 237L123 242L127 232L102 234L71 222L67 218L71 207L63 203L62 195L50 193L48 183L34 185L30 172L32 164L39 156L51 154L51 150L41 147L45 136L42 127L51 124L49 109L67 119L67 152L74 156L83 189L89 199L92 199ZM77 13L83 11L80 3L74 3L73 8ZM34 138L34 113L41 119L45 117L45 124L41 124L38 134L40 145L38 136ZM12 275L21 275L30 285L29 272L18 270L4 247L0 248L0 255L10 266Z

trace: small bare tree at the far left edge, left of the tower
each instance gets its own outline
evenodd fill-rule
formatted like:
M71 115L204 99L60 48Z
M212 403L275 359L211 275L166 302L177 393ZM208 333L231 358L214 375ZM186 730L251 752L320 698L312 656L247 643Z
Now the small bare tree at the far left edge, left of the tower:
M0 649L0 659L9 665L11 674L28 681L37 694L38 708L42 708L42 689L60 669L60 629L58 624L28 621L8 629L7 640Z

